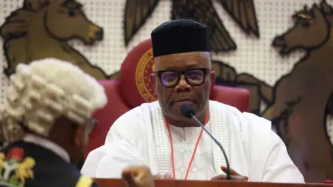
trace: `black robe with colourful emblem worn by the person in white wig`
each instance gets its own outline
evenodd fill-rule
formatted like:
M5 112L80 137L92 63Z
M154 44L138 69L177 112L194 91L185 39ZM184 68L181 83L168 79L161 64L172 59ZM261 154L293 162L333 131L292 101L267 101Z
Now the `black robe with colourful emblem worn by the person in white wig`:
M58 154L24 141L11 143L1 150L0 175L0 186L97 186Z

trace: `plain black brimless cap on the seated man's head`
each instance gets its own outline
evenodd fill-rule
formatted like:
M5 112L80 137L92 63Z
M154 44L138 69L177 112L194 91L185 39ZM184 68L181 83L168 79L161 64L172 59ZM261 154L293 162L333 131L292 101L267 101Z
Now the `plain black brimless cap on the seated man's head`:
M197 51L210 51L207 27L191 19L176 19L151 32L154 57Z

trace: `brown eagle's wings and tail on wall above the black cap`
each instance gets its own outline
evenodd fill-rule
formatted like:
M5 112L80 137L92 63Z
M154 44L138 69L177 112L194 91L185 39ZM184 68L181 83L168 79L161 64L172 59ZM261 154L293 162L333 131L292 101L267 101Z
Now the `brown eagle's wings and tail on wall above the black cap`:
M123 21L125 44L144 25L160 0L127 0ZM218 0L237 24L259 38L259 26L253 0ZM223 25L212 0L172 0L171 19L193 19L205 24L210 34L211 51L232 51L237 48Z

